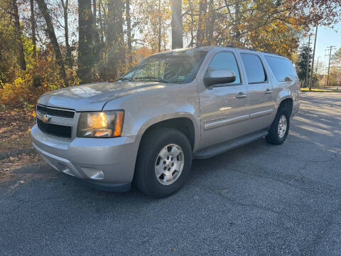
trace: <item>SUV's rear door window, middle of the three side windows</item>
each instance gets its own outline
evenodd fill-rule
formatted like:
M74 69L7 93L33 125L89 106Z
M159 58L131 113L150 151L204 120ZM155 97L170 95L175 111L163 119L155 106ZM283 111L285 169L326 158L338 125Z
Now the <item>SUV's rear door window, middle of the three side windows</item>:
M266 81L266 74L259 56L255 54L242 53L242 60L247 71L249 83L260 83Z

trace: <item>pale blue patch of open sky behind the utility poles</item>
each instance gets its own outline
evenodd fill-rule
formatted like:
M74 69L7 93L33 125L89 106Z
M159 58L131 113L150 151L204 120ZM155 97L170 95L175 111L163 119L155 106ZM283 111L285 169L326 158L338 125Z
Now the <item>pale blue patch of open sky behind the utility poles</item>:
M315 36L315 29L312 31L312 33ZM311 44L312 49L314 47L314 36L310 38L310 41L313 42ZM305 38L305 40L301 43L307 44L308 37ZM320 70L323 73L326 73L326 70L328 68L329 59L328 59L328 56L325 56L328 54L328 51L326 50L328 46L335 46L336 49L332 50L332 53L335 53L337 49L341 48L341 22L337 23L334 29L328 28L326 26L318 27L318 38L316 40L316 51L315 51L315 65L316 65L316 61L318 60L318 57L320 57L318 62L323 63L323 69Z

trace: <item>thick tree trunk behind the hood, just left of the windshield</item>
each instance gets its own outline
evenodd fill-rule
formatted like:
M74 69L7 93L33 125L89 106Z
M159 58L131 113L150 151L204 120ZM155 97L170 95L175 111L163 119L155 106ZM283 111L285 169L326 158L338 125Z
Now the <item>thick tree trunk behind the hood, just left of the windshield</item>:
M113 80L121 75L119 68L124 63L123 2L108 1L108 78ZM123 53L123 54L122 54Z

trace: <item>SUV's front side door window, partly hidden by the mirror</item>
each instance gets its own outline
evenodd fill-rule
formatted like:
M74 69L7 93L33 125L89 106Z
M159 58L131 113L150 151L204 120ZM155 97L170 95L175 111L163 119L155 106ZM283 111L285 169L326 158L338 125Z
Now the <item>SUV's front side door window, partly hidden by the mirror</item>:
M210 65L207 68L207 72L211 73L214 70L228 69L232 70L236 74L236 80L233 84L240 83L239 69L236 58L233 53L222 52L217 53L211 60Z

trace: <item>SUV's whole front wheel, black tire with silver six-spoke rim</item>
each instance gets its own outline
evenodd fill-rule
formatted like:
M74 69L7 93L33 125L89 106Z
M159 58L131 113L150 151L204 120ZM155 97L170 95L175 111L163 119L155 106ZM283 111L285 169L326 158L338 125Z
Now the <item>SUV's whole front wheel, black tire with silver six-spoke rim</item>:
M191 163L192 147L185 134L176 129L156 129L141 140L134 182L148 196L169 196L183 187Z

